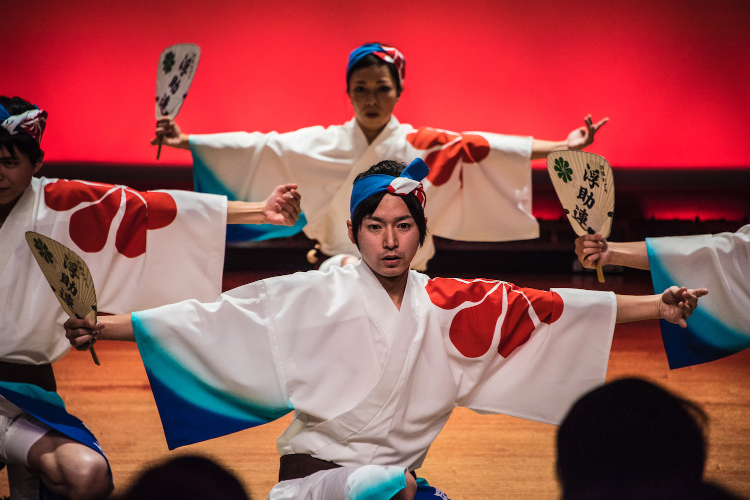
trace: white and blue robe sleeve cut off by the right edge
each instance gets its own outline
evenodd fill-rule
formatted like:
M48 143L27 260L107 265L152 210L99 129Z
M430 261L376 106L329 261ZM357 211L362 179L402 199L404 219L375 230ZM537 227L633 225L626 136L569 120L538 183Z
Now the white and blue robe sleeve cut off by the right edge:
M654 290L707 288L688 328L660 320L670 368L750 347L750 224L717 235L646 238Z

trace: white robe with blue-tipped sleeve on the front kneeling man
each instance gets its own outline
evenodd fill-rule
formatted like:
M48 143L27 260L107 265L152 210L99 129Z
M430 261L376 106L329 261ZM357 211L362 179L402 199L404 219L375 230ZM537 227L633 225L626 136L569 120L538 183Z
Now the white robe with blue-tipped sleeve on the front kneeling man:
M170 448L293 410L281 454L410 470L456 406L559 423L604 382L615 316L611 292L417 271L397 310L363 262L131 315Z

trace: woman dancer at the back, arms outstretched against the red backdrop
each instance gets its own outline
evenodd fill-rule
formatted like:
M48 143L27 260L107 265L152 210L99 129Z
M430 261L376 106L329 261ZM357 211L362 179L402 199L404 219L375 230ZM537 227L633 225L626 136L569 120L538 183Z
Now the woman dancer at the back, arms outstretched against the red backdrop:
M594 123L589 115L583 127L558 141L413 127L393 114L406 75L400 50L365 43L350 53L345 74L354 116L343 125L196 135L182 133L168 117L157 122L154 144L190 149L197 191L254 200L275 184L296 182L305 194L304 217L293 228L236 226L227 232L229 243L302 231L318 243L316 262L339 254L356 260L359 251L343 225L353 178L378 160L408 163L415 157L431 169L423 182L432 200L431 235L460 241L538 238L529 161L549 151L585 148L607 121ZM413 262L416 269L425 269L434 254L431 235Z

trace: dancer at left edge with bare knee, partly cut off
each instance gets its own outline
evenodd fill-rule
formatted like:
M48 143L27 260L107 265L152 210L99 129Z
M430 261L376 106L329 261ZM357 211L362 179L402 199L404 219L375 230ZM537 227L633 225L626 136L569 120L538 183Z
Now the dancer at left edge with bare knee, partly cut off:
M109 466L55 392L51 363L70 349L59 334L67 316L26 231L84 256L99 310L122 313L215 298L226 223L292 225L299 194L288 184L266 202L228 205L223 196L34 178L43 164L46 115L19 97L0 96L0 463L7 464L13 500L39 499L40 488L42 498L52 490L101 499L112 491Z

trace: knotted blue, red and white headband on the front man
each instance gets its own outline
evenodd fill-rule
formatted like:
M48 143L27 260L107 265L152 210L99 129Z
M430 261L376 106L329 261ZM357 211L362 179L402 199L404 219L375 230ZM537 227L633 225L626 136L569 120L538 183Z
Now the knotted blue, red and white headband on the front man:
M398 177L373 174L365 175L359 181L354 181L354 185L352 186L352 201L349 205L350 216L354 218L354 211L365 199L374 194L383 193L383 191L397 194L398 196L407 196L407 194L414 193L422 204L422 210L424 210L427 203L427 196L425 196L425 189L422 187L422 179L427 177L428 173L430 173L430 167L427 166L425 160L417 158L412 163L409 163L407 168Z

